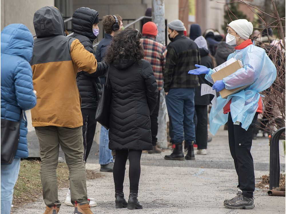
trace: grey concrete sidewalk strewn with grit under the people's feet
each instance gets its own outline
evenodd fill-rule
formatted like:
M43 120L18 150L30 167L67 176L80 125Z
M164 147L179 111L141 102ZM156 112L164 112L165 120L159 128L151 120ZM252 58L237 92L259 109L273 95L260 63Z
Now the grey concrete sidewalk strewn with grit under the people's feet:
M280 144L281 145L281 144ZM196 151L195 151L196 152ZM224 199L235 196L237 175L228 143L227 131L220 129L208 144L208 155L196 155L195 161L167 161L162 154L142 154L141 177L138 199L143 210L115 209L112 173L102 173L100 179L87 181L89 197L96 198L93 213L285 213L285 197L267 196L266 189L256 189L255 208L233 210L223 206ZM269 174L269 142L259 137L253 141L256 182L261 175ZM281 155L283 151L281 150ZM285 171L285 157L280 156L281 171ZM128 163L127 163L128 164ZM100 165L87 163L87 169L99 172ZM126 167L124 193L129 195L128 165ZM285 173L285 172L283 172ZM59 190L59 199L65 199L67 189ZM42 197L37 202L14 209L13 213L43 213ZM73 213L73 207L61 206L59 213Z

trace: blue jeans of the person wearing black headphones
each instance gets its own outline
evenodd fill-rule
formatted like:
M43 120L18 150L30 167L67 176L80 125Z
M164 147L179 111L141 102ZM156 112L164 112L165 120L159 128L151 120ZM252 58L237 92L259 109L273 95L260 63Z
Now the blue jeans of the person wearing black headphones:
M109 131L106 130L103 126L101 126L100 130L100 140L99 140L99 164L106 165L110 162L113 162L113 157L111 154L111 150L108 148L109 138L108 138Z

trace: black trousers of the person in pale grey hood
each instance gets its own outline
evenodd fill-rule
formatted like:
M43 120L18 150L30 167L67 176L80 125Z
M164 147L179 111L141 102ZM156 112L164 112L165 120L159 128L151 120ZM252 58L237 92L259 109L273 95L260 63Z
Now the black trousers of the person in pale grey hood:
M194 124L198 149L206 149L208 144L208 106L195 105Z

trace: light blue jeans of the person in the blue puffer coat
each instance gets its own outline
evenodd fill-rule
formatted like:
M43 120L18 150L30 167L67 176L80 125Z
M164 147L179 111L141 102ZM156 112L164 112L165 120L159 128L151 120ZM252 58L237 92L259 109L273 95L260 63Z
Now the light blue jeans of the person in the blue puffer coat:
M1 214L11 211L14 185L17 181L21 158L15 158L11 164L1 164Z

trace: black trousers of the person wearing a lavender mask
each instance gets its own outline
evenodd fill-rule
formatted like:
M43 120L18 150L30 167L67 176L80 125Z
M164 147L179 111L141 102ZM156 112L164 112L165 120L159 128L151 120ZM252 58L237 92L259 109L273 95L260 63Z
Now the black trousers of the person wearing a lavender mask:
M96 111L82 110L82 136L84 138L84 161L88 159L96 129Z

